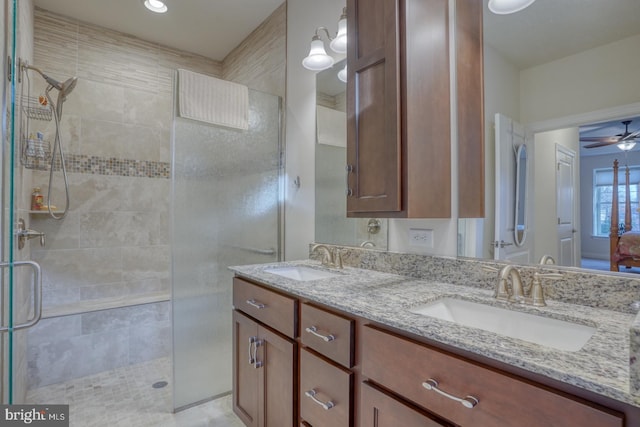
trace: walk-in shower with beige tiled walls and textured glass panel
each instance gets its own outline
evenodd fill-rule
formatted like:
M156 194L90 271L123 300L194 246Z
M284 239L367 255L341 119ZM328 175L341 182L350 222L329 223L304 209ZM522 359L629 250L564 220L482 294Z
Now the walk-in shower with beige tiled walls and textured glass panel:
M28 395L170 355L174 402L167 413L230 391L227 266L280 257L280 98L249 92L248 131L172 117L172 70L206 73L208 62L28 4L4 0L0 16L0 262L7 265L0 270L0 317L8 327L0 332L0 401L52 403L46 392ZM20 21L25 16L35 24ZM48 191L49 171L21 163L21 58L59 79L57 89L67 93L73 81L65 79L79 77L62 120L71 203L61 221L29 209L34 186ZM46 90L39 76L31 80ZM54 135L52 125L39 126ZM53 187L62 209L63 180ZM21 217L46 233L45 246L32 240L18 249ZM17 330L38 305L37 277L24 263L32 257L42 265L43 319ZM64 398L56 403L73 406Z

